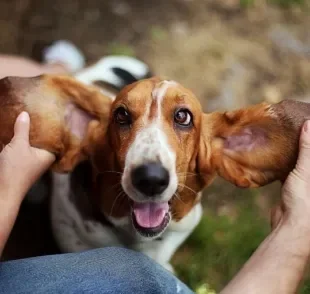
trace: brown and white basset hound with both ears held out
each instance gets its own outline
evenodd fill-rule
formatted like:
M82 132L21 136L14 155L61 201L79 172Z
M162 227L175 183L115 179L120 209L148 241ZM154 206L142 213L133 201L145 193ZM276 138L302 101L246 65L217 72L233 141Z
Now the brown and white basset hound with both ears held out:
M51 221L61 250L124 246L170 271L200 221L201 191L216 175L243 188L284 181L310 115L292 100L203 113L190 90L157 77L114 101L61 76L6 78L0 94L0 142L26 110L31 144L57 156Z

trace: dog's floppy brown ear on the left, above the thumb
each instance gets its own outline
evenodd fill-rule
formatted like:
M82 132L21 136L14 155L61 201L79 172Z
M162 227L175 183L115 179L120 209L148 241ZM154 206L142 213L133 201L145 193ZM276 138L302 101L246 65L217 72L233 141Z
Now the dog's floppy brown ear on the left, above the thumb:
M31 119L30 143L53 152L53 169L68 172L91 152L91 143L104 131L111 100L96 88L68 76L42 75L0 80L0 146L13 137L18 114Z

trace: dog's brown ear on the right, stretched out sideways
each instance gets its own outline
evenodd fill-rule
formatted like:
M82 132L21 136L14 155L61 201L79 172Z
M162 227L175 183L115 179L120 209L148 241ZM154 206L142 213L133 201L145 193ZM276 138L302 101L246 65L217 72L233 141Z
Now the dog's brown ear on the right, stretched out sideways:
M204 114L202 173L217 172L239 187L285 180L296 164L306 119L310 119L310 104L291 100Z

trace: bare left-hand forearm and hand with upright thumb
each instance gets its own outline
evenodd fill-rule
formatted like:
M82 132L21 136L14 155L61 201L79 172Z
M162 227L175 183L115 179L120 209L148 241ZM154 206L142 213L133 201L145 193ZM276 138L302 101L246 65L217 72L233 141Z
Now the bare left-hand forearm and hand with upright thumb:
M22 112L0 153L0 255L26 193L55 161L53 154L30 146L29 131L29 115Z

